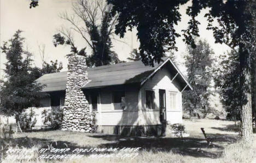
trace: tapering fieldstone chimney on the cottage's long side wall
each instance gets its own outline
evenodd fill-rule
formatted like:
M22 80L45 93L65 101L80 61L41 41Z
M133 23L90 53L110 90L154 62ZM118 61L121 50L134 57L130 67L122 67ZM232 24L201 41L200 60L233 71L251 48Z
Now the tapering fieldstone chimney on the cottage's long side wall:
M88 67L84 56L68 57L65 106L62 130L90 132L92 116L89 102L81 87L88 83Z

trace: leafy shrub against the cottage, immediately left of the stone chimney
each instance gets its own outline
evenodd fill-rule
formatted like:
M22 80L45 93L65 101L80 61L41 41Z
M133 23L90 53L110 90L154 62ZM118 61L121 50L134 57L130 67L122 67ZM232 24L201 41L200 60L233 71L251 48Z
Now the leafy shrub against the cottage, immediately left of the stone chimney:
M52 129L60 129L63 120L62 107L51 107L51 109L42 112L44 125L50 126Z

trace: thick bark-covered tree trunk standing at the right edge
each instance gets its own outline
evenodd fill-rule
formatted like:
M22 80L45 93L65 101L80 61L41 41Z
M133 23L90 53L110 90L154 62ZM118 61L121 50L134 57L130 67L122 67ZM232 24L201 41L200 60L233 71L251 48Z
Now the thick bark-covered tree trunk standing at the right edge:
M244 45L240 44L240 88L241 88L241 139L244 144L253 141L252 129L252 83L251 58Z

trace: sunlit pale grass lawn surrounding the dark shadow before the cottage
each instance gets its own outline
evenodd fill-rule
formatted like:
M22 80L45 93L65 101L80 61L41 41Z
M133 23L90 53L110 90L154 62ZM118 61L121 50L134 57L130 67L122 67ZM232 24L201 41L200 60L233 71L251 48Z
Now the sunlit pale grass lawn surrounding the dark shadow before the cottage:
M238 132L234 122L226 120L184 120L190 134L186 138L173 137L124 137L70 131L37 131L14 134L16 143L24 148L123 148L141 147L135 158L89 158L91 153L73 162L252 162L256 156L256 144L252 148L241 148L236 142ZM213 138L214 147L208 147L200 128ZM254 134L255 135L255 134ZM253 150L254 148L254 150ZM223 157L223 151L229 149ZM230 150L232 155L229 154ZM248 150L248 151L247 151ZM252 156L251 156L251 155ZM229 158L226 158L226 157ZM230 159L230 160L229 160ZM8 159L5 160L8 162ZM45 160L36 160L44 162ZM71 160L63 160L71 162ZM49 160L52 162L52 160Z

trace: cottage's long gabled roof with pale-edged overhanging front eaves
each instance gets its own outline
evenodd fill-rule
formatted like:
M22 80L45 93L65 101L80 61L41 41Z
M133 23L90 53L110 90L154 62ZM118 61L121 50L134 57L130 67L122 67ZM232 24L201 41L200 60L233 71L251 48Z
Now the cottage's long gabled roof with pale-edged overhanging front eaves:
M179 72L181 76L179 80L186 83L186 87L190 84L185 80L177 67L171 62L170 58L162 58L162 62L154 63L154 67L145 66L141 61L118 63L114 65L104 65L101 67L89 68L88 79L89 83L85 84L82 89L107 87L121 84L146 82L150 76L154 75L165 63L170 62L173 69ZM175 72L176 73L176 72ZM177 78L178 79L178 78ZM67 71L61 73L45 74L38 82L46 84L43 92L54 92L66 89ZM183 84L184 85L184 84ZM183 86L184 87L184 86Z

